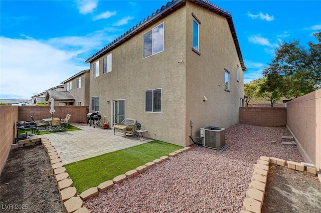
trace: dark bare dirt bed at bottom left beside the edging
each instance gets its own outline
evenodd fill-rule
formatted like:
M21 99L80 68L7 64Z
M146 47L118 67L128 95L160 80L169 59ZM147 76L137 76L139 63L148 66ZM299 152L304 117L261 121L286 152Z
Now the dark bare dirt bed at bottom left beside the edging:
M0 212L63 212L55 177L41 145L11 149L0 176Z

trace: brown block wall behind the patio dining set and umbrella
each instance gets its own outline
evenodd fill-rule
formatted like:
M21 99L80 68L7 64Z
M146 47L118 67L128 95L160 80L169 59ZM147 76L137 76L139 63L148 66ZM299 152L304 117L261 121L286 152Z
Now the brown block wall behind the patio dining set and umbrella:
M71 114L69 123L83 123L87 121L88 106L55 106L54 117L64 119L67 114ZM30 121L30 115L36 120L50 118L50 106L19 106L20 121Z

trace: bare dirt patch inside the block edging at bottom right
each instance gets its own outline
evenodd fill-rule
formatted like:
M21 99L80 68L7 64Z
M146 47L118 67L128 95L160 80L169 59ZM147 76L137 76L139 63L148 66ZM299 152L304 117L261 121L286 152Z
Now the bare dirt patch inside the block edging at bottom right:
M262 213L321 212L321 182L317 177L272 165Z

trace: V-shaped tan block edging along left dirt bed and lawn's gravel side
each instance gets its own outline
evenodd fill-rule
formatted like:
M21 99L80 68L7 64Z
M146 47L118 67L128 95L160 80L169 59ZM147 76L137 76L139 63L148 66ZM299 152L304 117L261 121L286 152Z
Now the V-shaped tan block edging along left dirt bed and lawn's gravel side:
M80 195L77 195L77 190L74 187L72 179L69 177L64 164L61 162L60 156L56 151L56 148L50 143L48 138L41 138L41 143L43 148L48 154L48 158L51 163L52 172L56 179L56 184L58 186L60 199L63 205L65 213L89 213L89 210L83 206L83 201L98 195L98 192L103 192L111 188L114 184L118 184L127 178L134 177L144 171L146 171L151 166L156 165L164 160L174 157L177 154L183 153L191 149L191 147L184 147L175 152L171 152L169 156L162 156L152 162L145 163L145 165L138 166L136 169L127 171L125 174L120 174L114 177L112 180L107 180L100 183L97 187L89 188L83 191Z

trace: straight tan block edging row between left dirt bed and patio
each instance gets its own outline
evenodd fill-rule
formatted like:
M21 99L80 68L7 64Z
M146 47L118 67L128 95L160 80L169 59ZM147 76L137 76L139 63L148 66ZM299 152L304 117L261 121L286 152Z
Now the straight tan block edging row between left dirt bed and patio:
M50 143L49 139L41 138L43 148L48 154L51 163L51 170L55 176L62 207L65 213L89 213L84 207L83 201L74 187L72 179L69 177L64 164L62 163L56 148Z

